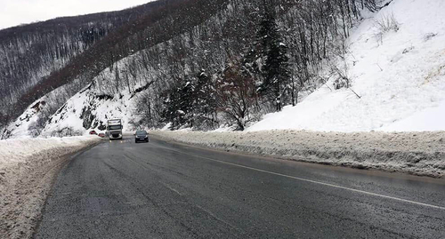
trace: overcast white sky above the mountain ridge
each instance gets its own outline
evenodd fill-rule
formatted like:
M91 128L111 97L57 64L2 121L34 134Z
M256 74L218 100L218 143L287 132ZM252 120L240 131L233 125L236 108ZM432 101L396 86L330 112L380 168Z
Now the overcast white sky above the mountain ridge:
M153 0L0 0L0 29L56 17L122 10L151 1Z

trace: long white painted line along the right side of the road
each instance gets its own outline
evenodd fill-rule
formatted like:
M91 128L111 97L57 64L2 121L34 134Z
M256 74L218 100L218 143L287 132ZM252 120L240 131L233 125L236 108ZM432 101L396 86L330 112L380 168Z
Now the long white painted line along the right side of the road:
M164 148L166 148L166 147L164 147ZM180 153L180 154L183 154L183 155L190 155L190 154L183 153L183 152L180 152L180 151L177 151L177 150L174 150L174 149L170 149L170 148L166 148L166 149L174 151L174 152L177 152L177 153ZM425 206L425 207L430 207L430 208L434 208L434 209L439 209L439 210L444 210L445 211L445 207L436 206L436 205L433 205L433 204L419 203L419 202L416 202L416 201L411 201L411 200L408 200L408 199L403 199L403 198L394 197L394 196L390 196L390 195L380 195L380 194L376 194L376 193L363 191L363 190L360 190L360 189L354 189L354 188L351 188L351 187L338 186L338 185L335 185L335 184L320 182L320 181L316 181L316 180L312 180L312 179L298 178L298 177L282 174L282 173L279 173L279 172L260 170L260 169L256 169L256 168L253 168L253 167L244 166L244 165L240 165L240 164L237 164L237 163L228 163L228 162L224 162L224 161L213 159L213 158L209 158L209 157L203 157L203 156L198 156L198 155L190 155L190 156L203 158L203 159L214 161L214 162L217 162L217 163L224 163L224 164L228 164L228 165L232 165L232 166L237 166L239 168L245 168L245 169L249 169L249 170L253 170L253 171L261 171L261 172L265 172L265 173L269 173L269 174L285 177L285 178L288 178L288 179L296 179L296 180L301 180L301 181L305 181L305 182L320 184L320 185L324 185L324 186L328 186L328 187L341 188L341 189L344 189L344 190L349 190L349 191L360 193L360 194L374 195L374 196L378 196L378 197L392 199L392 200L395 200L395 201L400 201L400 202L404 202L404 203L413 203L413 204L417 204L417 205L420 205L420 206Z

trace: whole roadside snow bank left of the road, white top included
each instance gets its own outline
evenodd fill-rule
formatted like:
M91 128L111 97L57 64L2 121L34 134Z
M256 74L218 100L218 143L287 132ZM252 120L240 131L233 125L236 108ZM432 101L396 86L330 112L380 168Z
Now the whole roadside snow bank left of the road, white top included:
M51 182L64 159L97 136L0 140L0 235L32 235Z

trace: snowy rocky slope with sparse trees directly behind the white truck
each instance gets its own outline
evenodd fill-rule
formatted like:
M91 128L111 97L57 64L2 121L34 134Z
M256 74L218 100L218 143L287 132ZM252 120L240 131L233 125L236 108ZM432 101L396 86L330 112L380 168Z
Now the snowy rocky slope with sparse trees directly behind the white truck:
M135 55L117 61L116 68L125 68L125 64L134 60ZM140 81L141 84L135 85L134 88L137 92L130 93L128 88L123 87L122 91L114 95L106 93L100 89L101 85L108 84L108 81L114 79L114 74L114 71L106 68L99 76L94 77L92 84L77 92L47 122L44 122L43 131L37 135L66 137L85 135L90 130L105 131L107 120L112 118L122 119L124 131L133 131L134 126L130 121L139 117L132 115L134 100L137 100L139 93L148 91L144 88L146 83ZM140 74L139 77L145 76ZM36 123L42 111L47 110L47 105L44 102L56 100L58 95L63 93L63 88L58 88L36 100L14 123L10 123L4 131L0 131L0 139L36 137L32 131L32 124Z

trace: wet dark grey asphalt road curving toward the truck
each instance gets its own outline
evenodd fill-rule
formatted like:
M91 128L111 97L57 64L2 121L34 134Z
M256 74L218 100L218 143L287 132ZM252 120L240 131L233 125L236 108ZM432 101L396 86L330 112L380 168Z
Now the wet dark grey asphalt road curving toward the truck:
M445 238L445 180L128 138L61 171L36 238Z

